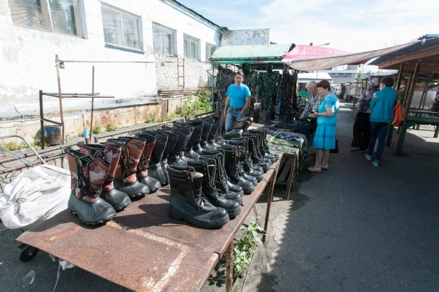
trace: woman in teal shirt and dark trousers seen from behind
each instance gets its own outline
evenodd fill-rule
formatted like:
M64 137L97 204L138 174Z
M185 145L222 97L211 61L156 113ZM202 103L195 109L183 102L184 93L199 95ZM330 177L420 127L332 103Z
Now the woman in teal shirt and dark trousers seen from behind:
M390 116L398 101L398 92L392 89L392 86L394 86L394 79L392 77L381 79L382 89L374 93L370 102L370 108L372 109L370 114L370 142L369 151L365 156L369 160L372 159L376 139L378 139L375 159L372 161L375 167L379 166L379 160L384 151L387 131L389 130Z

